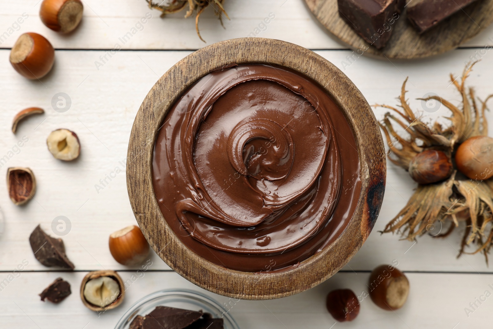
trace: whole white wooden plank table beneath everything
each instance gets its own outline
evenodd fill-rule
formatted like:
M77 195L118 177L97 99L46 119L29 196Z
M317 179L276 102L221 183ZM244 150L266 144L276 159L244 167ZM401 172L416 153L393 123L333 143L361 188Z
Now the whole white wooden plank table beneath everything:
M195 34L194 20L182 19L184 13L161 19L144 0L84 0L81 26L70 36L62 36L42 25L38 0L0 0L0 8L0 34L7 33L0 39L0 158L7 156L6 161L0 161L0 186L5 186L3 177L12 166L30 167L38 182L35 200L26 207L14 206L6 188L0 188L4 218L0 236L0 328L110 329L131 304L151 292L167 288L202 291L153 254L152 266L128 288L119 308L98 316L85 308L78 296L87 271L118 270L126 281L137 270L114 261L107 247L111 232L135 223L124 173L127 143L135 114L151 86L178 60L204 46ZM353 57L350 61L351 51L314 21L302 0L228 0L225 8L231 17L231 21L225 21L225 29L211 10L201 16L200 28L208 44L253 33L313 49L343 70L370 104L395 104L405 76L409 76L408 97L414 109L422 110L421 103L414 99L428 92L458 103L458 93L449 84L448 74L461 73L464 63L475 54L480 54L477 59L481 57L482 61L469 84L476 87L480 97L493 92L493 51L485 49L485 45L493 45L493 26L460 49L436 58L390 62ZM152 18L122 44L119 38L149 12ZM9 30L23 13L29 17ZM270 13L275 18L262 25ZM57 49L54 69L41 81L26 80L8 63L10 47L25 32L42 34ZM101 57L116 43L122 49L103 63ZM96 61L103 65L97 67ZM60 92L71 100L65 112L55 111L51 105L53 96ZM29 118L13 135L10 125L14 114L33 106L44 108L46 113ZM377 118L383 113L375 110ZM448 113L441 108L433 115ZM488 113L488 119L491 125L492 113ZM82 144L79 160L62 163L48 152L46 137L58 128L78 134ZM16 148L24 136L28 142ZM461 232L454 232L447 240L422 237L418 243L378 233L405 205L415 186L403 170L392 164L387 167L382 211L360 252L341 272L310 291L277 300L239 301L231 314L241 328L491 327L493 297L481 304L476 298L486 291L493 292L493 272L483 256L456 258ZM97 189L95 185L116 168L122 172L103 189ZM76 264L74 272L44 267L29 245L29 234L38 223L54 235L51 225L57 216L70 220L70 232L63 238L67 254ZM406 305L389 312L365 298L356 320L335 324L325 310L326 294L336 288L350 288L360 294L367 289L369 272L394 259L411 283ZM12 271L23 262L28 265L14 277ZM70 282L72 294L58 305L39 301L37 294L58 276ZM211 295L221 303L229 302L226 297ZM475 302L477 307L472 309L469 303ZM473 312L467 315L466 307Z

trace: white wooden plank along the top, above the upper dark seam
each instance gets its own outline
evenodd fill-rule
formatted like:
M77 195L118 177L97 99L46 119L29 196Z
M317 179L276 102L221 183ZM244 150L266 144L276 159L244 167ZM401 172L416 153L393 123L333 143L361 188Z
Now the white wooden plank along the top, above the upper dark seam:
M310 49L344 49L336 38L321 26L302 0L228 0L225 2L231 21L225 21L223 29L213 10L206 10L200 17L200 29L207 43L196 35L193 18L183 19L184 12L164 19L160 12L150 10L144 0L126 1L117 5L111 1L84 1L84 17L78 29L69 36L60 35L45 27L38 17L38 0L0 0L0 47L11 47L17 37L25 32L37 32L47 37L55 48L64 49L113 49L118 43L123 49L198 49L206 44L236 38L257 36L293 42ZM123 44L119 38L126 35L145 14L152 18L138 27L139 31ZM15 22L22 14L22 24ZM271 14L272 13L272 14ZM269 14L274 19L269 21ZM269 21L268 24L264 19ZM13 29L12 24L14 24ZM490 26L464 46L484 47L493 45L489 39ZM253 33L253 34L252 34Z

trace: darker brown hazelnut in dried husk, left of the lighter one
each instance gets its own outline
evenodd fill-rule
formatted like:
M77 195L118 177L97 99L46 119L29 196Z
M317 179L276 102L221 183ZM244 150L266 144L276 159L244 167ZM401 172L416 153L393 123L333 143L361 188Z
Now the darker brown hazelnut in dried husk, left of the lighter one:
M427 149L416 154L409 162L409 175L420 184L436 183L452 175L452 161L443 151Z

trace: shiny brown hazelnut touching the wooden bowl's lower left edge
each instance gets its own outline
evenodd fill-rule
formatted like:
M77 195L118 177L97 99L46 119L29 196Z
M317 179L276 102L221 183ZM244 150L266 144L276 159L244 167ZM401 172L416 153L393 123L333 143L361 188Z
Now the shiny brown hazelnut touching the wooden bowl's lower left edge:
M137 265L149 255L149 244L141 229L131 225L109 236L109 251L123 265Z

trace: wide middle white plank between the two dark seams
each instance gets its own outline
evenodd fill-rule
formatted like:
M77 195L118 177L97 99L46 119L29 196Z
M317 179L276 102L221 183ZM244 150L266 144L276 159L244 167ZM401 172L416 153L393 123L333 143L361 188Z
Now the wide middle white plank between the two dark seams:
M8 157L6 163L0 163L0 207L6 221L5 233L0 238L0 270L13 270L23 259L29 261L27 270L49 270L35 260L28 237L38 223L54 236L51 223L57 216L66 216L71 221L72 229L63 238L77 269L124 268L109 254L107 239L111 232L135 223L125 173L118 173L111 181L106 179L106 186L100 180L116 167L123 169L119 161L126 159L130 129L143 98L159 76L189 53L121 51L98 71L94 62L99 61L104 51L57 51L55 68L42 81L26 80L6 61L0 64L0 158ZM428 92L457 104L459 95L449 86L448 74L461 73L474 50L456 50L439 58L405 63L356 58L350 51L318 53L347 74L369 104L395 105L400 85L409 75L411 106L423 110L421 102L414 99ZM0 50L1 58L7 56L8 50ZM476 87L479 97L493 91L492 63L493 56L486 52L469 77L469 84ZM70 110L64 113L51 107L51 99L58 92L67 93L72 100ZM13 116L31 106L44 108L46 114L28 118L13 135ZM377 118L384 112L375 110ZM447 115L447 111L441 108L434 115ZM493 128L493 114L487 115ZM46 149L49 132L62 127L73 129L81 139L81 157L74 163L57 161ZM29 141L17 149L15 145L23 136ZM29 166L36 175L35 200L26 207L16 207L8 198L4 177L10 166ZM491 272L481 255L456 259L459 231L446 240L422 237L416 244L398 241L398 236L390 234L381 236L378 231L406 204L415 187L402 169L392 164L387 164L387 168L387 190L380 217L346 269L370 270L398 259L404 270ZM96 190L95 185L102 189ZM168 268L156 257L153 260L157 269Z

